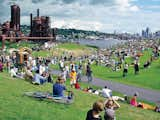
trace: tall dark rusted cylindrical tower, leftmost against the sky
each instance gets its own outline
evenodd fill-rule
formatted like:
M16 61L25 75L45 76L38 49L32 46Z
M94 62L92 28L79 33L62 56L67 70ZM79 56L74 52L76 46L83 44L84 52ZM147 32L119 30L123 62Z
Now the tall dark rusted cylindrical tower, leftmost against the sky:
M18 5L12 5L11 6L10 27L14 31L20 31L20 7Z

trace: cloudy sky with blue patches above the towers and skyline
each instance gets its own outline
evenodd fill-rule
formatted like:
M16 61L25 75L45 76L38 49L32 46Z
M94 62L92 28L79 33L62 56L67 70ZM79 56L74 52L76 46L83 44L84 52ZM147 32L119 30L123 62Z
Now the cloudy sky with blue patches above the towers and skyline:
M21 24L29 25L29 14L50 16L52 27L141 32L160 30L160 0L0 0L0 22L10 20L10 5L21 8Z

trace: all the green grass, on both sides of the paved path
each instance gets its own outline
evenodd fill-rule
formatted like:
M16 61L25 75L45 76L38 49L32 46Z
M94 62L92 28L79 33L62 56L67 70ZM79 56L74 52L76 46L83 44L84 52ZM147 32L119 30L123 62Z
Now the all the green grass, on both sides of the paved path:
M25 45L24 45L25 46ZM84 50L84 46L61 44L60 49ZM88 48L87 48L88 49ZM50 56L49 51L33 52L34 56ZM60 53L62 54L62 53ZM150 51L145 51L140 59L140 73L134 75L133 67L129 67L127 77L122 77L122 70L114 72L103 66L92 66L95 77L104 80L113 80L125 84L160 90L160 60L152 63L151 68L142 69L143 63L150 57ZM128 58L128 63L132 62ZM57 65L52 66L57 69ZM87 84L81 84L87 87ZM69 82L67 82L69 89ZM58 104L48 101L39 101L26 96L26 91L52 91L52 84L34 86L24 80L11 78L8 73L0 73L0 120L85 120L87 111L93 102L103 99L99 96L75 90L75 102L72 105ZM115 95L119 93L114 92ZM116 111L117 120L159 120L160 114L149 110L131 107L126 103L120 103L121 108ZM103 115L103 114L102 114Z

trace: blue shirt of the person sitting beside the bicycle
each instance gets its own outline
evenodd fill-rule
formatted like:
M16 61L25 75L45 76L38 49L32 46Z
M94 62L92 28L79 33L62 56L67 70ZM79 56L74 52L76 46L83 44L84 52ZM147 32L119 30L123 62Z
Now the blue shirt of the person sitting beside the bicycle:
M56 83L53 85L53 96L63 97L63 91L66 90L66 87L62 84Z

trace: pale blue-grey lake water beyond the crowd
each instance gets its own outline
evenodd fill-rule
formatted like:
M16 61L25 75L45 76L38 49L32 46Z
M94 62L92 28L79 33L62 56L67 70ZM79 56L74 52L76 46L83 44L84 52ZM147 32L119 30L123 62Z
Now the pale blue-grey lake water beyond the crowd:
M123 44L124 40L117 40L117 39L106 39L106 40L79 40L79 43L82 45L92 45L97 46L99 48L110 48L112 46L115 46L117 44Z

